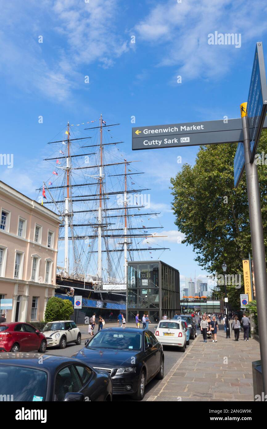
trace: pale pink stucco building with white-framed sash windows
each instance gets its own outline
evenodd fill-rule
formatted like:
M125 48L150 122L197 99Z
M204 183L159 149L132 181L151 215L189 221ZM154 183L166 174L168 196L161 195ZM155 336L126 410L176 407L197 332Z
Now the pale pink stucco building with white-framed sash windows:
M56 284L59 224L53 211L0 181L0 299L13 300L7 322L44 319Z

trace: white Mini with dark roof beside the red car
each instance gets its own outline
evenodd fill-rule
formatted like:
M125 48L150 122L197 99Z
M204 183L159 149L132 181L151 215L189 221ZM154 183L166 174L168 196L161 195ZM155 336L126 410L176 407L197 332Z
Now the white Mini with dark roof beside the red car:
M66 344L81 344L81 332L73 320L48 322L42 332L46 337L47 347L65 348Z

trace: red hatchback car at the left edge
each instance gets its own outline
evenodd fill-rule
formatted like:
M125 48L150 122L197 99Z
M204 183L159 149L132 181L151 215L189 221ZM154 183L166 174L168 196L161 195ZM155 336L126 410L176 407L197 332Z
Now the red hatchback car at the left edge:
M0 352L34 351L45 353L46 338L29 323L0 323Z

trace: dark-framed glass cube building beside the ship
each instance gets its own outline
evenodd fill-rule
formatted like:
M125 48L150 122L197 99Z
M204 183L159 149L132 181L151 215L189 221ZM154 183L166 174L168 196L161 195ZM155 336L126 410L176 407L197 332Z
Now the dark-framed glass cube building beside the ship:
M151 323L180 314L179 271L162 261L128 262L127 322L134 322L136 314L142 320L148 314ZM142 326L142 325L141 325Z

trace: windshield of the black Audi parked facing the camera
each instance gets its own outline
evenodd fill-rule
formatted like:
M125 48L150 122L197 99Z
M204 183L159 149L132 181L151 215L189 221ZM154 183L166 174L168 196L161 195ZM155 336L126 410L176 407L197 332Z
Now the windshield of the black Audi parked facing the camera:
M112 350L141 350L141 334L136 334L135 332L105 331L100 331L86 347Z

